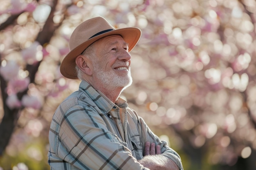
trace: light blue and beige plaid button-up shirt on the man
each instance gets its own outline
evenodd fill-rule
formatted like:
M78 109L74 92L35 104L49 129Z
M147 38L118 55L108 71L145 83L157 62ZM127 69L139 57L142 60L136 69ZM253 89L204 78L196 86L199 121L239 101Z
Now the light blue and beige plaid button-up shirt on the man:
M51 170L148 170L143 158L146 141L161 146L162 155L183 170L180 156L148 128L119 98L112 103L82 81L79 91L54 113L49 131Z

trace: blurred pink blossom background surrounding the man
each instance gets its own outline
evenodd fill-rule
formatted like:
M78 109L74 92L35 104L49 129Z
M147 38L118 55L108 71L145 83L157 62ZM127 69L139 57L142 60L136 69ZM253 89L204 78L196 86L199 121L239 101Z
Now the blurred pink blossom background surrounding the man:
M0 0L0 170L49 170L48 131L79 81L59 65L103 16L142 36L122 97L184 170L256 170L255 0Z

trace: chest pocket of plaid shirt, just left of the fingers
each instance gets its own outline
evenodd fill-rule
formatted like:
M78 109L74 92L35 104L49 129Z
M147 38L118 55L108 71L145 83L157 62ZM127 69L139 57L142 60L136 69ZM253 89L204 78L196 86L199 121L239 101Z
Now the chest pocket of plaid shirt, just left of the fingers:
M137 160L143 158L143 148L140 142L139 135L130 137L132 143L132 153L135 154Z

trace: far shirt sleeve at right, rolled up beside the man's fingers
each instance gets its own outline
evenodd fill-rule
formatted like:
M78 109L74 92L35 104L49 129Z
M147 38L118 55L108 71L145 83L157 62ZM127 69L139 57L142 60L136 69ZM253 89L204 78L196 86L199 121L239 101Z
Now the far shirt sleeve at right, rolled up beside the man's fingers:
M137 115L137 113L134 110L132 110L132 111ZM144 145L145 145L146 141L150 141L150 143L158 144L158 145L161 146L162 155L164 155L165 157L168 157L169 159L173 160L177 164L179 169L183 170L180 155L175 150L170 148L166 141L160 141L159 137L157 137L157 135L155 135L150 130L150 128L145 123L144 119L141 118L141 117L138 117L138 126L139 126L139 129L141 130L141 141L142 141L142 144L143 144L143 150L145 148Z

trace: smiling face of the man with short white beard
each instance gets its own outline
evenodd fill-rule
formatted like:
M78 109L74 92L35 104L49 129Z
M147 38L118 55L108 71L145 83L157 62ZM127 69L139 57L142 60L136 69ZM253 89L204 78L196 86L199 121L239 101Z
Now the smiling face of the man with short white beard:
M126 88L132 83L128 44L120 35L110 35L94 42L92 76L104 88Z

